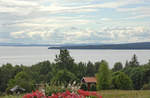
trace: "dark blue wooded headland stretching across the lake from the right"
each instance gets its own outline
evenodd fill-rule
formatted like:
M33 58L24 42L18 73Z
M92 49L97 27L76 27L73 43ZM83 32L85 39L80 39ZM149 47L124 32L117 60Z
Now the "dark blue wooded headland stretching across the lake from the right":
M48 49L150 50L150 42L49 47Z

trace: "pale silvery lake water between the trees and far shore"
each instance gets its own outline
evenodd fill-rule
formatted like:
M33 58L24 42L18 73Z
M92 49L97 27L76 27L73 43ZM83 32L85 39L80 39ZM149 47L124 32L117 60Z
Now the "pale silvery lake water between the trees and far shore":
M134 54L137 55L140 64L145 64L150 59L150 50L69 50L75 62L91 62L106 60L112 68L115 62L125 64ZM0 47L0 65L11 63L30 66L44 60L54 62L59 50L51 50L47 47Z

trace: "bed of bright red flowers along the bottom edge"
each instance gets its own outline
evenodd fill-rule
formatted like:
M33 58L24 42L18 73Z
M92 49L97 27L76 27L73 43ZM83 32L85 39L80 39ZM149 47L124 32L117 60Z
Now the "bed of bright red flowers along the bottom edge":
M30 94L24 95L23 98L86 98L90 96L95 96L95 98L102 98L102 96L100 96L96 92L83 91L80 89L77 91L77 93L74 92L71 93L70 91L66 91L57 94L53 93L51 96L45 96L43 93L37 90Z

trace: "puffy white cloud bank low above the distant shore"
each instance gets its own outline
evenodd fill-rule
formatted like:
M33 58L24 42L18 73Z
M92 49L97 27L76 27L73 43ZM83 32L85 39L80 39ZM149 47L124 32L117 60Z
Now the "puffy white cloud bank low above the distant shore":
M21 32L21 31L20 31ZM32 38L37 36L42 40L49 42L63 43L125 43L137 41L149 41L150 29L146 27L105 27L102 29L79 29L73 28L61 30L59 28L51 31L29 31L29 32L14 32L12 36L16 38ZM21 36L22 35L22 36ZM52 43L51 43L52 44Z

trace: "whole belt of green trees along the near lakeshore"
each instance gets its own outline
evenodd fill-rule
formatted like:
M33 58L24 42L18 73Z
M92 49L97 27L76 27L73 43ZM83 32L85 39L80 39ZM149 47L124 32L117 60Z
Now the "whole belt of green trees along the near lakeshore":
M56 55L55 62L44 61L32 66L2 65L0 92L9 93L10 88L16 85L25 88L26 92L31 92L36 84L40 83L81 83L82 77L85 76L97 77L99 89L150 89L150 61L145 65L139 65L134 55L131 61L126 62L125 67L121 62L117 62L114 68L109 69L108 63L104 60L95 63L75 63L69 51L63 49Z

